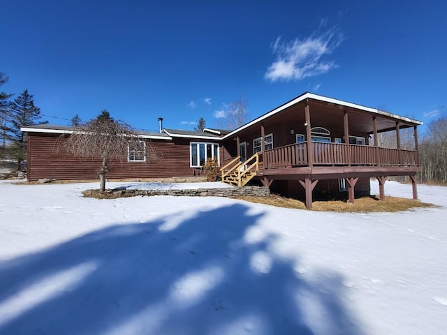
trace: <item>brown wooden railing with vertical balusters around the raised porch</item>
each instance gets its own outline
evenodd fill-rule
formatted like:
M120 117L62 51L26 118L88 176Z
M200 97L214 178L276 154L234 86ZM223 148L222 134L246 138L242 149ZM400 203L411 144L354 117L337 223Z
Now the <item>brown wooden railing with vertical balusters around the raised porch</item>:
M307 142L288 144L265 151L265 168L309 165ZM369 145L312 142L314 165L417 166L418 151L386 149Z

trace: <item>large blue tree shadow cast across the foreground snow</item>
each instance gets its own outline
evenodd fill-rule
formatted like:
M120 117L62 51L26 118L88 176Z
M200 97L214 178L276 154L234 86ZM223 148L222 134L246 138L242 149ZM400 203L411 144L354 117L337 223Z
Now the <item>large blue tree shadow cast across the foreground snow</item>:
M1 262L0 334L362 334L341 278L274 255L262 216L173 214Z

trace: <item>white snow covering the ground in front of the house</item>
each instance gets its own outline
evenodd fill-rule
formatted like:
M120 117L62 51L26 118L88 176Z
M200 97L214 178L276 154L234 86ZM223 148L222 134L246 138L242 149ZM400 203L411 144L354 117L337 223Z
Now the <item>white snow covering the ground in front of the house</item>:
M87 188L0 182L0 334L446 334L447 188L394 214Z

